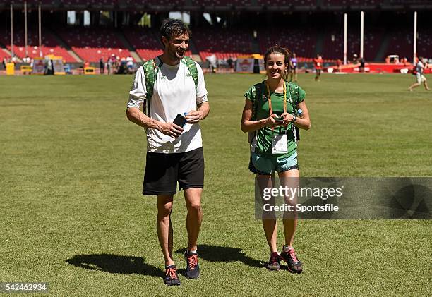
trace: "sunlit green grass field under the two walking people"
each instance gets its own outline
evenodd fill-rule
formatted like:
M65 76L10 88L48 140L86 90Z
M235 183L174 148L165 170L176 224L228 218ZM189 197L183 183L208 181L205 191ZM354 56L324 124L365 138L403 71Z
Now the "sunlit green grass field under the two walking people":
M431 221L302 220L304 273L265 269L239 128L243 94L263 76L205 79L202 274L167 287L155 199L140 195L145 135L125 116L132 77L0 77L0 281L48 282L50 296L430 296ZM432 92L407 92L413 81L299 75L312 121L301 176L432 176ZM181 193L181 269L185 218Z

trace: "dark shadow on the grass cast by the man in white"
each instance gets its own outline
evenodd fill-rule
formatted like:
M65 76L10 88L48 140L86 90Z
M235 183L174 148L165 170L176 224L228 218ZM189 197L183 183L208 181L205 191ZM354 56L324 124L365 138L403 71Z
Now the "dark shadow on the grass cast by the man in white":
M164 271L145 264L143 257L97 254L75 255L66 260L70 265L89 270L100 270L109 273L143 274L151 277L164 277Z

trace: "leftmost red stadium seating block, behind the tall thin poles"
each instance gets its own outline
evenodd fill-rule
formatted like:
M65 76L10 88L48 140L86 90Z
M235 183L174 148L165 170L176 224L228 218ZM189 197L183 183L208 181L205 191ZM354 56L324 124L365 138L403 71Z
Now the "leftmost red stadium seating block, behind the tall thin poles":
M11 34L10 31L4 29L0 30L1 39L0 42L6 45L6 48L11 50ZM25 41L24 41L24 30L22 28L16 28L13 31L13 52L18 58L23 59L25 57ZM35 58L40 56L39 49L39 35L37 30L28 29L28 56ZM54 54L56 56L62 56L66 62L76 62L68 51L61 47L56 41L55 37L47 30L42 29L42 55Z

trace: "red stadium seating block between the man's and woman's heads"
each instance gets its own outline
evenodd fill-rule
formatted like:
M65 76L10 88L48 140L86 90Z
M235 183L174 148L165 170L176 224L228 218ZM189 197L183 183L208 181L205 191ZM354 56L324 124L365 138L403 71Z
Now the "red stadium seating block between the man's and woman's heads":
M250 30L197 28L193 30L192 38L203 61L212 54L215 54L217 59L252 54Z

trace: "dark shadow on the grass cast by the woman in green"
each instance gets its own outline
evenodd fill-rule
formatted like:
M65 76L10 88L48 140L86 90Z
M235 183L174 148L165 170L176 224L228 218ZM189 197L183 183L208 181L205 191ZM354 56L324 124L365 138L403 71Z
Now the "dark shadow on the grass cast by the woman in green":
M185 249L176 250L176 253L184 253ZM241 248L228 246L198 245L198 257L209 262L235 262L241 261L251 267L263 268L264 263L247 256Z

